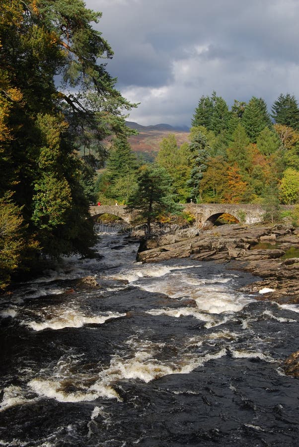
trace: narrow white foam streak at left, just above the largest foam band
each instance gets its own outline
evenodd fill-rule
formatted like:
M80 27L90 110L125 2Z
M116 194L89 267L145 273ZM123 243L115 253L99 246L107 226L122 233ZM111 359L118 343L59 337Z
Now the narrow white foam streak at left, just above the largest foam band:
M44 329L59 330L65 327L82 327L84 324L103 324L111 318L120 318L125 315L125 313L107 311L101 315L86 316L77 309L67 309L44 322L31 321L25 324L35 331Z

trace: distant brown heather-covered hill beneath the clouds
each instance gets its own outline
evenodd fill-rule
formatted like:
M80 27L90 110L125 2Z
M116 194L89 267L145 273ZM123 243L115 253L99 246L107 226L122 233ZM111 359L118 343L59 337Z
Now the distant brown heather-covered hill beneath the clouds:
M139 135L132 135L129 138L132 150L141 153L147 160L153 160L159 150L161 141L169 134L175 134L178 146L189 141L189 128L187 126L173 127L169 124L142 126L132 121L126 121L126 125L139 132Z

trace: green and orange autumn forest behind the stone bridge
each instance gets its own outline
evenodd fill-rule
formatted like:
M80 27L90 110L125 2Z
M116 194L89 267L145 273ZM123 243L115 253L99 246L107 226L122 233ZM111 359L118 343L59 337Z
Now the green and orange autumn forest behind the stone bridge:
M299 107L280 94L272 114L262 98L235 100L229 110L213 92L195 109L190 142L169 134L155 163L172 178L179 202L281 203L299 200ZM115 142L97 180L99 198L127 203L136 188L138 160L125 141Z

